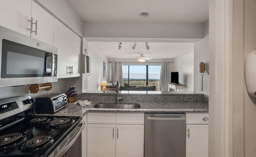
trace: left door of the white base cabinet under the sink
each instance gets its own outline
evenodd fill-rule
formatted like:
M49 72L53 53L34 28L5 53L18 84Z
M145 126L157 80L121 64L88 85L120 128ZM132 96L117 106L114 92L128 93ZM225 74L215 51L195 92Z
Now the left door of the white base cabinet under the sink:
M115 128L113 124L88 124L88 157L115 157Z

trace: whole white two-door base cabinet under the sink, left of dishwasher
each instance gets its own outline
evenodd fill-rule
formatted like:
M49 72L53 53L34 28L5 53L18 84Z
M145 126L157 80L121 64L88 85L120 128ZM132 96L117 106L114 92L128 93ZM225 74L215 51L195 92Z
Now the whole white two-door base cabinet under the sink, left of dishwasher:
M87 157L143 156L143 113L88 113Z

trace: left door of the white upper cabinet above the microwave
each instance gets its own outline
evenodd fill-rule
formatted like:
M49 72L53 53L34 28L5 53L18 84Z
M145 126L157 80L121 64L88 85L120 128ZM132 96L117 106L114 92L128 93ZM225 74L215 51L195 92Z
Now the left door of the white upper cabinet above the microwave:
M30 36L32 0L0 0L0 26Z

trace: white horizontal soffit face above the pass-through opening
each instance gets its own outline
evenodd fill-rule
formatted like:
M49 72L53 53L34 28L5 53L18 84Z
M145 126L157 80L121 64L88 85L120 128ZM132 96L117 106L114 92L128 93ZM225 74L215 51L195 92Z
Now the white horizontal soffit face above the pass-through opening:
M84 37L202 39L202 24L84 22Z

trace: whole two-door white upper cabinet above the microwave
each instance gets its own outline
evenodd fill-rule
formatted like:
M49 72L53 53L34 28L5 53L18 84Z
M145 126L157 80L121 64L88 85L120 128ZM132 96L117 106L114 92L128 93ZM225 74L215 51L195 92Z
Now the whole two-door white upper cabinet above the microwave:
M26 36L30 36L41 42L52 45L53 43L53 29L54 29L54 17L39 6L33 0L1 0L0 1L0 26L14 30ZM36 24L32 24L37 20Z

